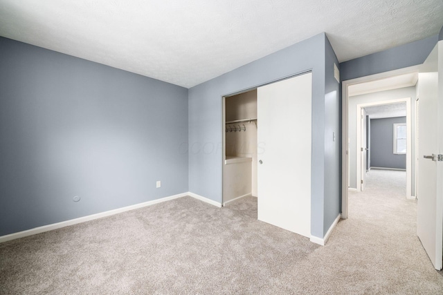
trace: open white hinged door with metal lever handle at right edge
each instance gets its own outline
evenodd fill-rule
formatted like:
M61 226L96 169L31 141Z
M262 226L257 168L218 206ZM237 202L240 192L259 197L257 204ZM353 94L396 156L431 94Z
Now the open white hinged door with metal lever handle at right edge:
M443 41L440 41L426 59L420 70L418 81L420 99L418 150L420 154L417 191L417 236L435 269L442 269L443 258L443 162L437 161L437 155L443 152L443 85L442 77L440 77L439 86L438 77L439 70L440 73L443 73L442 47Z

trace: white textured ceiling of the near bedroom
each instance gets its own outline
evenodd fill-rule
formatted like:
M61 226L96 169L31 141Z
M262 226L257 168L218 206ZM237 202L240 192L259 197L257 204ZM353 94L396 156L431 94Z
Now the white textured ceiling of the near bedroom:
M3 37L185 87L320 32L346 61L442 26L442 0L0 0Z

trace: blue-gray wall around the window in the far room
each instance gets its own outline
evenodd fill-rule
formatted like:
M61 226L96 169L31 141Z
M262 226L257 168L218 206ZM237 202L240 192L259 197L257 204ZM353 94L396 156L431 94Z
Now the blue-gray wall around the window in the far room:
M371 166L406 169L406 155L395 155L394 124L406 123L406 117L372 119L371 121Z

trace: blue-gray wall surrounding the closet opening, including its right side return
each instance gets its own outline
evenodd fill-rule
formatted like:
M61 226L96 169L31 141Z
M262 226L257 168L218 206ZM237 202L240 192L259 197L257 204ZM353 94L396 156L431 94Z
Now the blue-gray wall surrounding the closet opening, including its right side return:
M337 128L339 112L336 107L340 103L339 98L329 93L337 91L338 84L335 82L337 85L334 85L332 82L334 72L331 63L335 60L335 56L326 42L324 33L316 35L190 88L189 189L192 193L221 202L221 144L224 131L224 126L221 126L221 98L224 95L312 70L311 234L323 238L332 224L329 222L331 216L336 218L339 213L340 196L340 173L332 173L339 171L336 150L340 131L337 130L336 142L332 142L329 130L328 134L325 134L326 120L332 122L331 130ZM328 68L327 73L325 73L325 59L328 67L332 68L332 70ZM327 90L325 84L328 86ZM325 97L328 97L332 105L327 110L325 110ZM328 174L325 181L326 173Z

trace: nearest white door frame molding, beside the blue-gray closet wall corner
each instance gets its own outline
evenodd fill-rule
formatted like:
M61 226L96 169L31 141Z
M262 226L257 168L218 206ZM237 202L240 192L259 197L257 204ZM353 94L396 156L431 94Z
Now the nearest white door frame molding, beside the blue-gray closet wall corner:
M390 70L388 72L378 73L374 75L368 75L364 77L358 77L354 79L349 79L341 82L342 86L342 117L341 117L341 218L347 219L347 204L348 204L348 189L349 189L349 160L348 160L348 154L349 150L347 147L347 142L349 138L348 133L348 108L349 108L349 94L347 91L347 88L354 84L360 84L363 82L371 82L383 78L388 78L392 76L402 75L402 74L409 74L419 71L419 66L410 66L408 68L400 68L398 70Z

